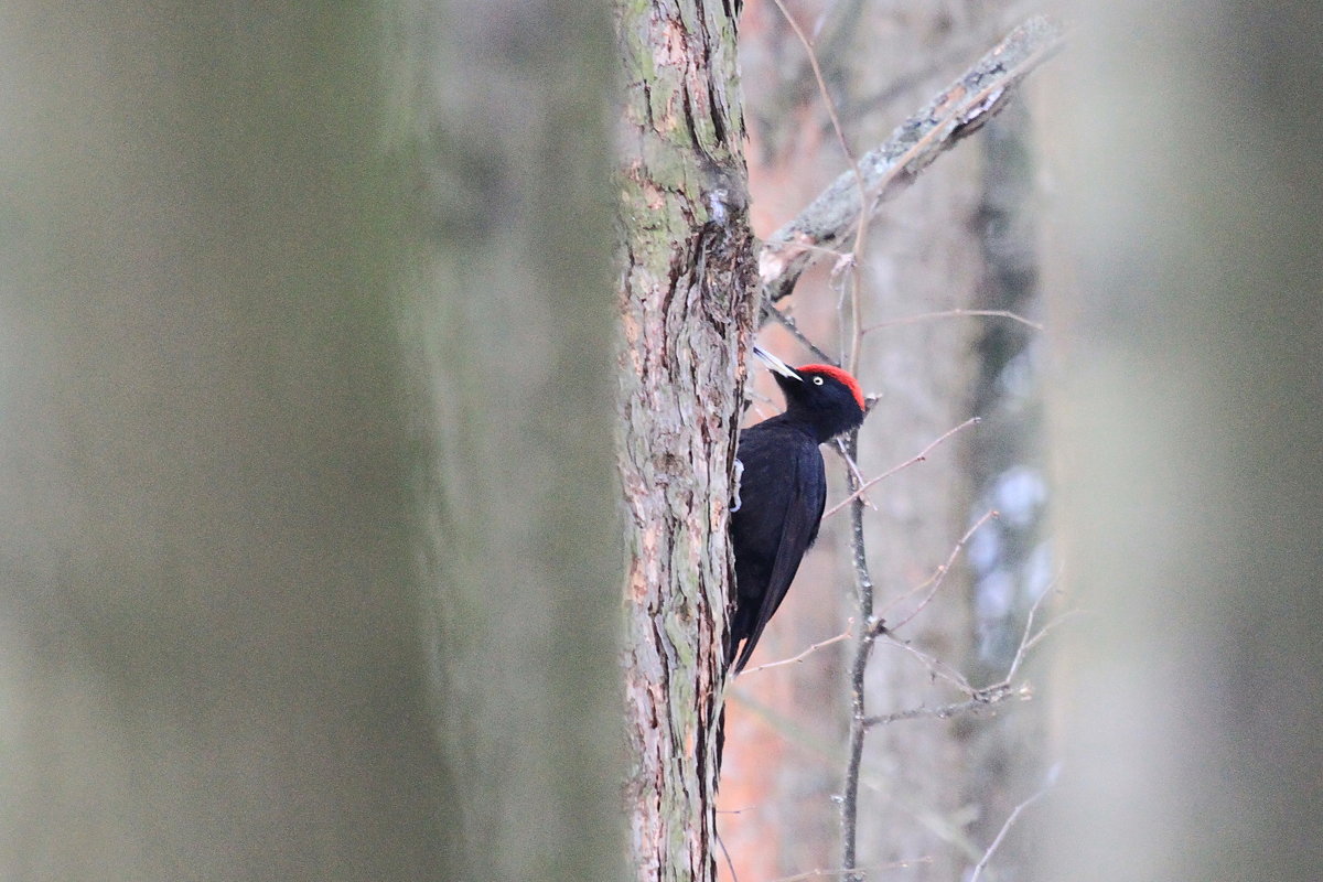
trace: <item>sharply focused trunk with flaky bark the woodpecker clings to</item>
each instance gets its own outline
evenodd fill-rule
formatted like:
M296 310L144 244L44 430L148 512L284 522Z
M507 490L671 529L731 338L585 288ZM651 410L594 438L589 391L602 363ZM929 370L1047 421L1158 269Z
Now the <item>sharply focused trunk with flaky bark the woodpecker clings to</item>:
M729 4L618 4L628 800L640 879L708 879L754 288Z

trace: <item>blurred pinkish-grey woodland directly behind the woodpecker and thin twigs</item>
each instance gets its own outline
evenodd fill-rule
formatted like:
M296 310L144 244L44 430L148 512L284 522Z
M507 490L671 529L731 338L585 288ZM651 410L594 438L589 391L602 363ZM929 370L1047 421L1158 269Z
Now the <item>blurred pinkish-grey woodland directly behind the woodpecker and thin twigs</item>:
M771 237L1023 15L1023 5L1009 3L746 4L740 49L755 234ZM787 16L811 41L820 82ZM913 616L896 640L873 649L869 715L935 711L968 701L964 685L1002 681L1029 610L1057 583L1044 521L1040 135L1031 102L1013 99L885 204L852 264L823 261L777 304L880 395L860 435L864 479L963 426L923 463L867 493L876 611L892 624ZM864 331L857 356L856 296ZM761 339L792 364L819 360L775 323ZM758 389L767 403L754 406L750 422L781 406L771 383ZM970 426L971 417L982 422ZM831 508L847 495L845 464L840 456L828 461ZM992 510L999 517L988 518ZM849 524L848 509L826 521L754 666L847 629L857 636ZM923 603L949 558L951 573ZM1064 606L1045 604L1039 625ZM856 645L840 640L736 684L718 821L741 879L840 866ZM1050 763L1041 710L1013 701L872 729L856 866L913 879L953 879L974 866L1013 808L1041 787ZM1003 845L1003 867L1023 863L1020 842Z

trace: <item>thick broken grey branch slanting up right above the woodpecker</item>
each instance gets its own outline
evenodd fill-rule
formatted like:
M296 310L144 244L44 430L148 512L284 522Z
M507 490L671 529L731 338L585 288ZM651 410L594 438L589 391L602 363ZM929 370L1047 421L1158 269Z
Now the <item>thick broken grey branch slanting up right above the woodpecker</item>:
M1061 28L1035 16L970 67L881 147L865 153L790 223L763 242L758 274L769 303L794 291L820 249L857 234L861 218L905 188L942 152L991 119L1013 87L1061 48Z

